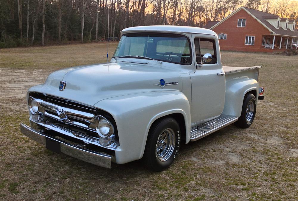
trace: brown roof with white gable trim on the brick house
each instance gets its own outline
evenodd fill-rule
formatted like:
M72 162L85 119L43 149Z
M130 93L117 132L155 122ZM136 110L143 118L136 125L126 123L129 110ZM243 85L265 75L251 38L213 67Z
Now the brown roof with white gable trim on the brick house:
M235 10L234 13L232 13L232 14L228 15L226 18L222 19L217 24L215 24L214 26L210 27L210 29L213 29L214 27L218 26L219 24L221 24L222 22L224 22L226 19L228 19L229 17L231 17L232 15L234 15L235 13L237 13L238 11L240 11L241 9L245 10L254 19L256 19L258 22L260 22L273 35L284 35L284 36L298 37L298 31L297 30L291 31L290 29L287 29L287 30L285 30L283 28L277 29L276 27L274 27L268 21L265 20L266 17L269 17L269 16L277 16L277 17L279 17L279 15L274 15L272 13L266 13L266 12L263 12L263 11L260 11L260 10L255 10L255 9L244 7L244 6L241 6L240 8L238 8L237 10Z

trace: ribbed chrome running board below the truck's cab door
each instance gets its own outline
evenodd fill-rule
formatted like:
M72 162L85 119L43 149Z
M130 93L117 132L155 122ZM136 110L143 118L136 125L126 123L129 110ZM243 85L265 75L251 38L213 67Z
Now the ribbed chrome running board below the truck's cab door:
M238 117L229 116L229 115L221 115L216 119L208 121L199 126L192 127L190 129L190 141L196 141L201 139L215 131L226 127L238 120Z

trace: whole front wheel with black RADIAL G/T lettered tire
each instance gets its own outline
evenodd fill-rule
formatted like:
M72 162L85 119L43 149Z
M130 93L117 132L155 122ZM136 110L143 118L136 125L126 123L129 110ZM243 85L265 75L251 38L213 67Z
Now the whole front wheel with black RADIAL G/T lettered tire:
M147 166L159 172L167 169L178 155L181 132L178 122L164 118L154 122L149 130L144 159Z

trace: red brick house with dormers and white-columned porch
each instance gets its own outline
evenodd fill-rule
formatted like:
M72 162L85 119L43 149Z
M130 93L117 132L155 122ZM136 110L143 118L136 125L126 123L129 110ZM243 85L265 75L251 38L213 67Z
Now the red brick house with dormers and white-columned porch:
M205 28L218 34L223 50L278 52L297 48L292 46L298 44L295 23L295 20L242 6L221 21L208 21Z

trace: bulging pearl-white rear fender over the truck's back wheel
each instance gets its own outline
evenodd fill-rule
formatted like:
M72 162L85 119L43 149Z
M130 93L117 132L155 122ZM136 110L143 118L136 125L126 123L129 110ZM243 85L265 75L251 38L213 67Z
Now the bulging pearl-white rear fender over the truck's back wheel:
M240 117L244 96L247 92L253 90L256 91L258 96L259 83L257 80L249 77L236 77L226 82L223 114Z

